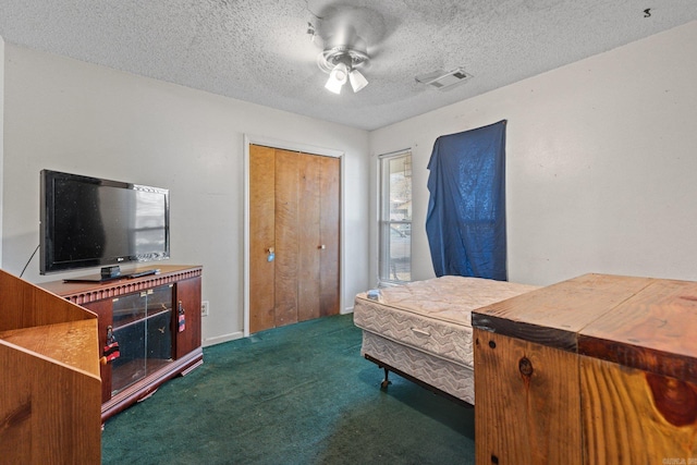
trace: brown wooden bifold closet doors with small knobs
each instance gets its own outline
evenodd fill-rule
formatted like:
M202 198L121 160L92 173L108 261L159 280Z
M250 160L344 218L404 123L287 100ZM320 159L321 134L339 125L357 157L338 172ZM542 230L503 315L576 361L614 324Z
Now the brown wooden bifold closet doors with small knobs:
M339 314L340 160L249 146L249 332Z

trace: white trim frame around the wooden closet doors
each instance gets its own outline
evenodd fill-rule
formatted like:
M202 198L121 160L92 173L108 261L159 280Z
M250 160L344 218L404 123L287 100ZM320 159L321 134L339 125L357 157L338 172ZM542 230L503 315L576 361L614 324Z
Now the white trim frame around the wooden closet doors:
M343 150L318 147L308 144L280 140L273 137L244 134L244 271L243 271L243 315L244 336L249 336L249 146L264 145L282 150L302 151L304 154L334 157L340 160L340 206L339 206L339 313L345 313L344 305L344 155Z

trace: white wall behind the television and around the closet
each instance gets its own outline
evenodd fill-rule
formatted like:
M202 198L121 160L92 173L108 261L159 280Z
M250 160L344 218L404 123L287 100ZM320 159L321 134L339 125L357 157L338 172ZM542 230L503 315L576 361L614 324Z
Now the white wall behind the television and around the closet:
M44 168L167 187L171 264L204 266L205 343L243 331L244 137L343 151L343 302L368 286L368 133L13 45L5 48L3 268L38 245ZM70 276L81 274L71 273ZM82 272L85 274L85 272ZM25 279L38 274L34 257Z

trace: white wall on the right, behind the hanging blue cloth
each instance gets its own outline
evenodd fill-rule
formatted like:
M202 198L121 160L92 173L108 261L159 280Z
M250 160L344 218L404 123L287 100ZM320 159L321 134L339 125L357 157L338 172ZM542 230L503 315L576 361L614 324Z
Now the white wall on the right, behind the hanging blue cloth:
M414 277L433 276L424 232L433 142L506 119L511 281L697 280L695 57L697 22L372 132L371 198L375 156L414 149Z

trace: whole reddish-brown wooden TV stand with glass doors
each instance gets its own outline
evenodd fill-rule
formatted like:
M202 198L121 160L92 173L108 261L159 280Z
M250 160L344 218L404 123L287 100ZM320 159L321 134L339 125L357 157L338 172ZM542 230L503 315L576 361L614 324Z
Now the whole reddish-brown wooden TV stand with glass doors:
M107 360L100 367L102 421L204 363L201 274L199 266L161 266L107 282L39 284L97 314L99 352ZM113 341L118 351L110 347Z

